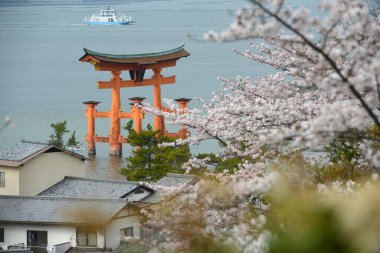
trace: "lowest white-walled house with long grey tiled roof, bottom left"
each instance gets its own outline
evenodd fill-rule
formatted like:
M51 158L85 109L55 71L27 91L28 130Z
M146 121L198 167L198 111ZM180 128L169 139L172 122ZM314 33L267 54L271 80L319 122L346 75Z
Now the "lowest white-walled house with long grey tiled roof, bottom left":
M0 247L60 253L75 246L115 249L134 215L125 199L0 196ZM125 227L123 227L125 225ZM63 252L62 252L63 253Z

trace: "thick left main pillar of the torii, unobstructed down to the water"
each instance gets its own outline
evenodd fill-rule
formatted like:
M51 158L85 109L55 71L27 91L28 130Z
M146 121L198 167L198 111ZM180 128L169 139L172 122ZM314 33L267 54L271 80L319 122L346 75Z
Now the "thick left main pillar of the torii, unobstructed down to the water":
M112 88L112 105L110 111L111 128L110 128L110 155L121 156L122 145L119 142L120 136L120 71L112 71L112 81L115 82Z

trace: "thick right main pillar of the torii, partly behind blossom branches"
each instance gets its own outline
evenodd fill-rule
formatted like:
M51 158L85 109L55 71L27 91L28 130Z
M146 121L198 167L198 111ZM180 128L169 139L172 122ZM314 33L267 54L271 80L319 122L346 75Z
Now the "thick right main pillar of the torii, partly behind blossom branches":
M154 71L154 88L153 88L153 106L154 109L161 110L161 68L153 69ZM164 119L161 116L154 115L153 119L154 130L159 130L161 134L165 131Z

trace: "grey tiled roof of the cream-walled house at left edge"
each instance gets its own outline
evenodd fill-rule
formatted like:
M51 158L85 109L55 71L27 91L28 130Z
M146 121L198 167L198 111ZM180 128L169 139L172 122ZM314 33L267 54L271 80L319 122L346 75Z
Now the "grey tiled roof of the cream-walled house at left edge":
M0 150L0 165L19 167L35 156L42 154L48 150L57 149L62 152L74 155L80 159L87 159L86 157L68 151L66 149L58 148L47 143L21 141L6 150Z

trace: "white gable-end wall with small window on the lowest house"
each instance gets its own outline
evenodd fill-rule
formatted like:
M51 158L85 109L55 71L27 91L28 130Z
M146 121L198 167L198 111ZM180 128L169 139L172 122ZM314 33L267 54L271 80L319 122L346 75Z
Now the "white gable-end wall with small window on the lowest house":
M120 245L120 229L133 227L135 238L140 238L140 219L138 215L113 220L106 226L106 247L115 250Z

